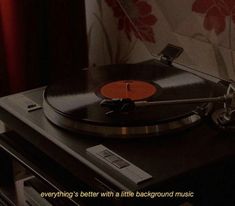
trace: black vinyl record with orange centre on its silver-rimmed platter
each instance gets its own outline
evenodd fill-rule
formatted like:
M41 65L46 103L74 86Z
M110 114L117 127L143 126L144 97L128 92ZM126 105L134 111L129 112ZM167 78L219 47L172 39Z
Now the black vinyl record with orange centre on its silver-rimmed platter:
M166 133L197 122L195 108L177 104L114 112L100 105L103 99L133 101L189 99L213 96L213 85L192 73L158 64L109 65L83 70L50 85L44 92L44 113L56 125L95 135L143 136Z

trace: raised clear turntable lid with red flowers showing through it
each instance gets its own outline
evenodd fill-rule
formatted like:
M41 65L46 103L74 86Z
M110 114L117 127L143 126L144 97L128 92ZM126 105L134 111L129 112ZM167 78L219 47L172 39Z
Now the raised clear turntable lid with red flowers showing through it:
M119 0L130 35L154 58L167 44L184 52L174 62L221 79L235 80L234 1Z

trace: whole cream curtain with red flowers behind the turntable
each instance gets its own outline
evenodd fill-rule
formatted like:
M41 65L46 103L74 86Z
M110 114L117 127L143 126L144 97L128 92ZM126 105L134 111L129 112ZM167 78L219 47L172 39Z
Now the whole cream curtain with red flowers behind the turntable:
M157 58L171 43L184 48L177 63L235 80L234 0L96 0L87 18L91 64Z

